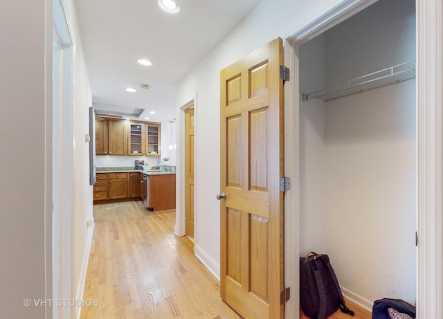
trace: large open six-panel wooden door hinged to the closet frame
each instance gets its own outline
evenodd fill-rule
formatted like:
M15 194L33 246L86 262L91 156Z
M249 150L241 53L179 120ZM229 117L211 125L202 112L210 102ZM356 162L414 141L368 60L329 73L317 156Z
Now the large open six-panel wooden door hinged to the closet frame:
M221 298L283 318L282 39L221 71ZM226 193L226 194L224 194Z

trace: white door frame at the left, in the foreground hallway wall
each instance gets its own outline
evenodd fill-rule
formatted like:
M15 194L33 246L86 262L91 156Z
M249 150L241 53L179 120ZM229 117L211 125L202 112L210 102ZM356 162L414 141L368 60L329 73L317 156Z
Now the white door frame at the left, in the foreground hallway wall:
M53 92L51 161L53 162L50 192L53 203L52 244L52 298L73 299L73 42L66 20L65 3L53 0ZM48 230L46 230L48 232ZM79 307L53 307L53 318L74 318ZM52 317L51 317L52 318Z

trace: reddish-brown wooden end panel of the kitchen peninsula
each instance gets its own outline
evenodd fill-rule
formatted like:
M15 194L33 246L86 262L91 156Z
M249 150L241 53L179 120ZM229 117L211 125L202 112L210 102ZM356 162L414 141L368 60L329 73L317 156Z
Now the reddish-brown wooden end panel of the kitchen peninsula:
M150 176L150 207L153 210L175 208L175 174Z

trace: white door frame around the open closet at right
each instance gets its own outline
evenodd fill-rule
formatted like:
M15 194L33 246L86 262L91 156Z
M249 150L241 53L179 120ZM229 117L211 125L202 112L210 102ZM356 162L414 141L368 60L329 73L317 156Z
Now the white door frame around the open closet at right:
M325 30L339 24L354 13L375 3L377 0L334 1L332 5L325 5L308 21L294 21L293 25L282 30L280 37L287 42L298 46L323 33ZM417 26L417 318L443 318L443 4L441 0L416 1ZM431 30L431 31L429 31ZM427 32L425 32L427 31ZM293 54L295 59L295 53ZM296 59L295 59L296 60ZM298 79L298 64L292 61L297 68L291 80ZM294 86L292 84L291 86ZM287 92L290 101L293 98L293 107L298 110L296 92ZM295 90L293 90L295 91ZM291 125L298 129L298 119L291 117ZM285 132L296 134L296 132ZM294 140L297 140L295 135ZM288 138L287 138L288 139ZM298 145L285 145L285 154L298 156ZM298 158L298 157L294 157ZM298 190L297 179L293 179L293 189ZM288 194L293 202L292 228L286 228L287 251L289 263L295 263L299 257L298 249L298 221L299 208L297 194ZM288 206L289 207L289 206ZM286 218L288 218L286 214ZM426 231L425 231L426 230ZM425 262L426 260L426 262ZM294 269L297 265L293 265ZM298 278L287 277L291 286L298 287ZM287 307L296 307L298 304L297 290L293 289L296 298ZM298 309L298 308L296 308ZM295 316L287 318L298 318ZM292 311L294 313L294 311Z

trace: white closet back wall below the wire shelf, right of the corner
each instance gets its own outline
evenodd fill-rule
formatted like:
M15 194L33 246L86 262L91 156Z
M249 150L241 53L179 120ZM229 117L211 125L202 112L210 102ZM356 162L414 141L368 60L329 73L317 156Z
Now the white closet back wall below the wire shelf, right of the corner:
M326 251L340 283L415 303L415 80L325 105Z

